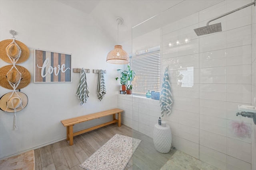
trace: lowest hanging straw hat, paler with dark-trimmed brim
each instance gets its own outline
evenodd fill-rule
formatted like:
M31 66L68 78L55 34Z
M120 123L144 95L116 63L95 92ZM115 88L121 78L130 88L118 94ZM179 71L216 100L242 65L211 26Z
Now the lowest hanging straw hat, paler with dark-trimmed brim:
M12 92L4 94L0 98L0 109L6 112L14 113L16 109L17 111L21 111L28 104L28 96L22 92ZM10 97L11 96L11 97ZM10 98L10 99L9 99Z

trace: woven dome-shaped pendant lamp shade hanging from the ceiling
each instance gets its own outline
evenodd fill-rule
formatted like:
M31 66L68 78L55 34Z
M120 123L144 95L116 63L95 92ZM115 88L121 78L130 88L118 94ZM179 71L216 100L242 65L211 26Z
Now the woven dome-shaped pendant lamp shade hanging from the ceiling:
M122 49L122 45L115 45L114 49L107 55L106 62L112 64L127 64L129 63L129 56Z

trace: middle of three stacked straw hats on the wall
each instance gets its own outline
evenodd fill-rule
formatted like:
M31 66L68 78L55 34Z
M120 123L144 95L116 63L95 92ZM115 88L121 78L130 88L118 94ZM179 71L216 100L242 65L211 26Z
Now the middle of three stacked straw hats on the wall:
M20 75L20 73L15 68L12 68L12 66L13 65L6 65L0 68L0 86L13 90L8 80L12 83L17 83L20 79L20 84L16 88L17 90L28 86L31 79L30 72L23 66L15 65L21 73ZM10 71L11 68L12 70Z

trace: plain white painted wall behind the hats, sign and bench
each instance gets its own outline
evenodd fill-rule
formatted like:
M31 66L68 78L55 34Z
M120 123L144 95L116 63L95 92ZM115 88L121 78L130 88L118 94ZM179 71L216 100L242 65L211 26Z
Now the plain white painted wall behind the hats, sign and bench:
M120 65L106 63L106 55L114 48L104 31L88 16L52 0L1 0L0 41L16 39L30 49L30 57L20 66L30 71L31 82L21 92L28 96L28 105L16 113L18 130L12 131L13 114L0 111L0 158L64 139L66 127L62 119L117 107L120 84L115 80ZM90 96L80 106L76 88L79 73L72 72L72 83L33 83L34 49L72 54L72 68L89 68L86 74ZM8 65L0 60L0 67ZM121 67L122 68L122 67ZM107 94L100 102L96 97L97 74L92 69L106 70ZM11 90L0 87L0 96ZM110 119L97 119L75 125L82 129Z

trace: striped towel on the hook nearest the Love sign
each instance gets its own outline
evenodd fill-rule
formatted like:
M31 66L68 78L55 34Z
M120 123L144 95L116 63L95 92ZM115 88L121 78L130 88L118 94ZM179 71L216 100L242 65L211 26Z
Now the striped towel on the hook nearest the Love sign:
M78 96L78 99L80 100L80 105L84 105L84 103L87 102L89 93L90 92L86 81L85 70L84 68L81 68L80 82L76 90L76 96Z

